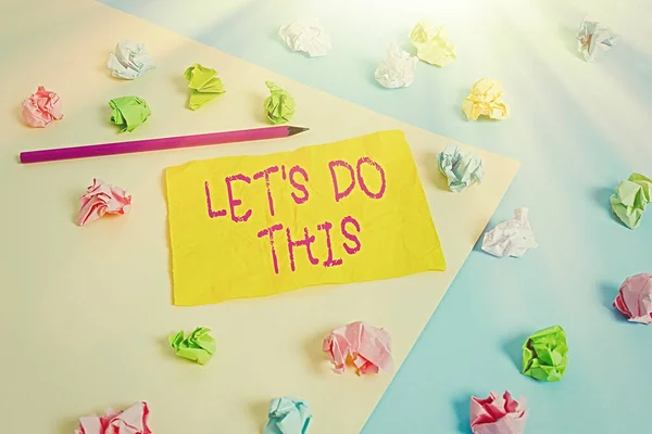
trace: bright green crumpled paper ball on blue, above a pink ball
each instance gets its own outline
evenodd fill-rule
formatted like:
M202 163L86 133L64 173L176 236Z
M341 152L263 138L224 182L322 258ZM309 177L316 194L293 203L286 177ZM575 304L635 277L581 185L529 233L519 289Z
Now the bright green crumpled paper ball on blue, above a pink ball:
M539 330L523 344L523 373L541 381L560 381L568 366L566 332L561 326Z

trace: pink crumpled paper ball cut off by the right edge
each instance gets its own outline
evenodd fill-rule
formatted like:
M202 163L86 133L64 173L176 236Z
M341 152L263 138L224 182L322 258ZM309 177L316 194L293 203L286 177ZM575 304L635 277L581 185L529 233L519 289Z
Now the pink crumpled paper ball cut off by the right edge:
M640 273L625 279L614 307L631 322L652 323L652 275Z

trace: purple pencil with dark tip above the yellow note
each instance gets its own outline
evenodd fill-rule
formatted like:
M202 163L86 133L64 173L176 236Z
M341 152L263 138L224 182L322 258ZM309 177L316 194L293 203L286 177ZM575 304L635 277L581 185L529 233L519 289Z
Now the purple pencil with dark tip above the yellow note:
M87 144L83 146L22 152L21 163L45 163L61 159L88 158L92 156L133 154L137 152L164 151L179 148L205 146L254 140L279 139L306 131L302 127L266 127L240 131L209 132L205 135L165 137L130 142Z

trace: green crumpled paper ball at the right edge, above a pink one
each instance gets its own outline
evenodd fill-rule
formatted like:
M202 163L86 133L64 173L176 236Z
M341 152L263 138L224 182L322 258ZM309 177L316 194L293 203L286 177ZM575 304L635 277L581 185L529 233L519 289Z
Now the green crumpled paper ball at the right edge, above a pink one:
M652 179L641 174L631 174L616 187L616 194L610 197L612 210L625 226L636 229L650 203L651 192Z

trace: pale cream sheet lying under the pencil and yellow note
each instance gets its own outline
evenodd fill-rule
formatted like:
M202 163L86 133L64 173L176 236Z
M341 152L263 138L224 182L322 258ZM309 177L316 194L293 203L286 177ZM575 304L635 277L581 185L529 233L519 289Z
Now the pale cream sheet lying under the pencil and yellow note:
M151 406L156 434L260 433L271 397L310 401L310 434L356 433L391 375L330 373L321 353L333 328L365 320L391 332L399 367L464 263L517 168L480 150L487 180L446 190L435 155L449 141L250 65L91 0L25 1L0 14L0 414L3 433L71 434L80 416ZM34 28L47 28L34 33ZM103 69L121 38L147 43L159 67L136 81ZM15 41L15 42L11 42ZM184 69L220 72L227 93L185 108ZM297 100L290 140L23 166L21 151L264 125L264 80ZM38 85L65 117L46 130L20 122ZM109 123L111 98L137 94L153 114L131 135ZM351 122L354 119L354 122ZM191 159L264 154L380 129L402 129L414 153L448 269L312 288L253 301L172 306L163 169ZM134 195L129 215L74 225L78 196L99 177ZM174 356L168 333L213 329L217 354L200 367Z

